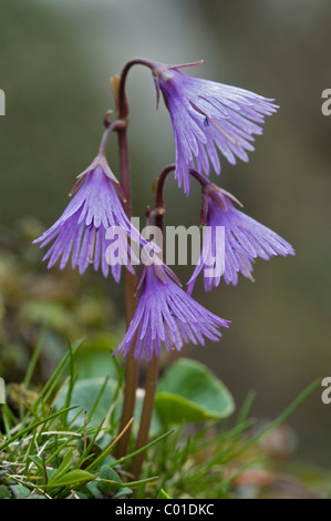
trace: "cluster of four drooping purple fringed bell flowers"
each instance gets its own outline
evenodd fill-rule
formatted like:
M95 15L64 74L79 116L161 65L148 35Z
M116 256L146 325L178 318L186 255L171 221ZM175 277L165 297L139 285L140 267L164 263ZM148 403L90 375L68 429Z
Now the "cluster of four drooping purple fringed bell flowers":
M237 200L208 180L210 166L220 173L219 153L230 164L235 164L237 157L248 161L247 153L255 150L254 135L262 133L265 116L278 109L273 100L245 89L192 78L179 70L194 64L166 65L144 60L136 63L152 69L157 98L163 94L169 111L176 150L175 178L179 187L184 186L186 195L189 195L193 170L204 180L204 221L211 231L204 238L200 259L188 280L187 293L163 263L142 268L137 308L114 354L126 356L133 350L135 358L151 360L153 355L159 356L162 345L167 350L180 350L188 343L204 345L205 338L218 340L221 337L219 328L229 326L228 320L192 298L200 273L206 290L218 286L221 277L226 284L236 285L239 272L252 279L252 264L257 257L267 260L275 255L293 255L294 252L278 234L237 210ZM101 267L107 277L107 229L112 226L121 226L138 247L146 245L146 239L131 225L123 208L121 185L105 160L103 149L102 145L91 166L80 174L72 191L74 196L61 217L35 241L41 243L41 247L53 241L43 257L48 259L49 267L60 260L62 269L71 257L72 267L79 267L81 274L89 264L93 264L95 270ZM225 233L223 251L218 251L216 241L219 227ZM125 256L124 253L137 264L128 242L120 257ZM224 270L211 269L210 275L209 268L213 268L217 256L224 256ZM112 264L116 282L121 277L121 264L133 272L132 262Z

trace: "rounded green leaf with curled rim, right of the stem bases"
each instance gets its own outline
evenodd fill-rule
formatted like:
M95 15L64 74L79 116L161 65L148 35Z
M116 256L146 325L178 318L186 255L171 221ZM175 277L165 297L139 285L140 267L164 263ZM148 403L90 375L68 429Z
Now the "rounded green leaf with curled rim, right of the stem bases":
M195 422L227 418L235 410L227 387L203 364L182 358L161 379L155 396L165 422Z

